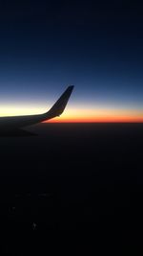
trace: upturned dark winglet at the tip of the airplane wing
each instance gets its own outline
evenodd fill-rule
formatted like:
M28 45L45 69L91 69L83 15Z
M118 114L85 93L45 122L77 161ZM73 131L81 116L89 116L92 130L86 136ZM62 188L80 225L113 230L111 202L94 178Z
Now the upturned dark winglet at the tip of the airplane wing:
M51 116L51 118L53 118L55 116L60 116L63 113L72 94L73 87L73 85L70 85L66 89L66 91L61 95L57 102L51 106L51 109L47 113L45 113L46 116Z

